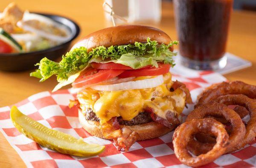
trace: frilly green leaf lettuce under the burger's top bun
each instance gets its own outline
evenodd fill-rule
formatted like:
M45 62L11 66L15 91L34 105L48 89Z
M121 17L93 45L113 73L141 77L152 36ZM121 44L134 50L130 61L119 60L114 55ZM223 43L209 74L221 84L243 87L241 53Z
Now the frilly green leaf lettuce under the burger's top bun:
M157 41L151 41L148 38L145 43L135 42L134 44L116 45L108 48L99 46L90 52L87 52L84 47L75 48L67 52L65 56L62 56L62 60L59 63L47 58L42 59L36 64L39 66L38 70L30 73L30 76L40 78L40 81L45 81L47 78L56 75L58 82L66 85L75 80L72 79L67 82L70 76L84 70L91 62L115 62L133 69L147 65L157 67L157 62L164 62L174 66L172 56L177 53L173 53L169 48L177 44L177 41L172 41L169 45L158 44Z

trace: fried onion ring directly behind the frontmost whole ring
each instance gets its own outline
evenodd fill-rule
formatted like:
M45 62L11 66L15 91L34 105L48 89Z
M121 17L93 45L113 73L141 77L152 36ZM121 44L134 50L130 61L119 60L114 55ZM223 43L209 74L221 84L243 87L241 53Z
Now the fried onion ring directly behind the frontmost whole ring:
M198 106L188 115L186 121L205 118L209 115L222 116L231 123L232 131L230 133L229 145L227 146L226 153L233 151L233 149L243 140L246 132L244 123L240 116L233 109L228 108L224 104L212 102ZM198 143L198 141L194 139L192 139L192 141L194 141L194 143ZM213 145L214 144L212 144L212 146ZM191 152L193 153L193 151Z

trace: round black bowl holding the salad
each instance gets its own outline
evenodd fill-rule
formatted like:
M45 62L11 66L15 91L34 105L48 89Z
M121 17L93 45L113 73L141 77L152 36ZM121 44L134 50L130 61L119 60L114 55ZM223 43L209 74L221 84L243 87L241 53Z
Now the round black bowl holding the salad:
M69 49L70 43L79 35L80 28L73 20L66 17L61 17L52 14L41 14L49 17L62 25L67 26L70 31L74 32L74 36L67 42L57 45L46 50L27 52L27 53L10 53L0 54L0 70L6 71L18 71L18 70L30 70L35 69L35 64L38 63L42 58L47 57L48 59L55 60L62 56Z

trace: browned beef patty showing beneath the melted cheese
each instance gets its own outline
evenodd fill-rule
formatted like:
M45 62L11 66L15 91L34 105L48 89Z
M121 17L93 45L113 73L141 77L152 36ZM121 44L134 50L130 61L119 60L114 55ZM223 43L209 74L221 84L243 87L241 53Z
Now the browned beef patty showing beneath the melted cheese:
M96 116L96 114L93 112L92 109L86 109L84 112L85 119L86 120L92 120L92 121L99 121L99 118ZM128 120L123 120L122 117L117 118L120 125L127 125L127 126L133 126L133 125L139 125L143 123L149 123L152 121L152 118L150 117L150 113L148 112L140 112L139 115Z

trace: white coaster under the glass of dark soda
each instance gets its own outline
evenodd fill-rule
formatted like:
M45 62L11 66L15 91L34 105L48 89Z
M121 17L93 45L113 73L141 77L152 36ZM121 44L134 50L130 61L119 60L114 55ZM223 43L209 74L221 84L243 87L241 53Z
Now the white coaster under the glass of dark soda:
M232 73L237 70L241 70L241 69L252 66L252 63L250 61L242 59L239 56L235 56L232 53L225 53L225 56L227 56L226 67L224 67L221 70L216 70L215 72L225 75L227 73ZM184 67L183 65L180 64L180 55L179 54L177 56L174 56L173 58L175 60L176 68L178 67L178 68L185 68L187 70L191 70L191 69ZM196 71L200 72L201 70L196 70Z

